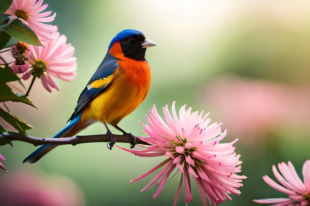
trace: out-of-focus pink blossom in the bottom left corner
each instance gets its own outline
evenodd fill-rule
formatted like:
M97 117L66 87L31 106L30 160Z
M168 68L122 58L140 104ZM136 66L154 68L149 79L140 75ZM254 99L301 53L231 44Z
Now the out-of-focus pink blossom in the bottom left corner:
M1 206L85 206L84 194L70 178L38 168L0 175Z

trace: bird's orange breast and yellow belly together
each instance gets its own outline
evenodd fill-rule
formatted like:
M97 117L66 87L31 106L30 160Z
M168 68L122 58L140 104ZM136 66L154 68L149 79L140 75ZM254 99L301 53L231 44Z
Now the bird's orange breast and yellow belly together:
M151 68L148 62L127 58L119 60L118 64L118 76L111 82L110 87L83 111L85 117L88 114L86 119L97 119L116 125L146 98L151 84Z

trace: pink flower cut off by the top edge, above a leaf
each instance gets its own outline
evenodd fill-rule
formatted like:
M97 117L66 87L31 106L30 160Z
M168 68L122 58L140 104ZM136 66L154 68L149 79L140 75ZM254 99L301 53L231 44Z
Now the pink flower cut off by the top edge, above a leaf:
M40 13L48 7L48 4L42 5L42 3L43 0L13 0L10 7L4 12L10 15L8 23L18 19L23 24L28 25L40 41L51 41L53 39L52 32L57 31L58 28L55 25L45 23L52 22L56 13L52 16L49 16L52 11Z

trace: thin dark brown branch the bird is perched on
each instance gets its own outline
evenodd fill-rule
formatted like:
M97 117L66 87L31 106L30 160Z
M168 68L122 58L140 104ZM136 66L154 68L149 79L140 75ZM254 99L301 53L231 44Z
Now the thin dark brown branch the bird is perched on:
M124 135L116 135L113 134L116 142L123 143L132 143L132 136L128 134ZM41 137L33 137L27 134L20 134L15 132L6 132L0 134L0 139L4 138L7 140L6 143L10 143L12 140L23 141L33 144L34 146L50 144L50 145L77 145L81 143L88 142L109 142L110 138L108 135L99 134L99 135L86 135L86 136L74 136L74 137L61 137L61 138L41 138ZM149 145L147 142L142 141L139 137L136 137L136 144L144 144Z

